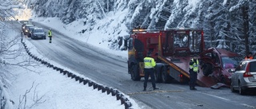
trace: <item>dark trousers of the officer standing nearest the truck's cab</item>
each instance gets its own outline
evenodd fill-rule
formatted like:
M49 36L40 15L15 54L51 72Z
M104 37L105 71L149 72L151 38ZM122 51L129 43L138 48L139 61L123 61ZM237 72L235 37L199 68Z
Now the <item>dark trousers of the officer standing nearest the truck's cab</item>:
M155 80L154 80L154 68L144 68L145 72L145 81L144 81L144 88L146 89L147 81L149 80L149 76L152 80L152 86L155 88Z

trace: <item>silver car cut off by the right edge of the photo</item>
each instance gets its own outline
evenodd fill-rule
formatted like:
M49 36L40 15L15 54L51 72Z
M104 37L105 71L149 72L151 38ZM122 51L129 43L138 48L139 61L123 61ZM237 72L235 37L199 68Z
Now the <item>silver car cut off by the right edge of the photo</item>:
M242 60L238 68L230 70L231 76L230 90L239 91L244 95L246 91L256 90L256 59Z

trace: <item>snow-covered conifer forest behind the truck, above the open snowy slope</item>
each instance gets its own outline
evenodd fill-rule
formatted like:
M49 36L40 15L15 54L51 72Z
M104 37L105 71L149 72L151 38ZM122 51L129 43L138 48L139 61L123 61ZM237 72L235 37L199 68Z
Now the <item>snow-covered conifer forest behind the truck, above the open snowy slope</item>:
M83 19L93 26L107 14L124 14L130 32L133 28L200 28L206 48L245 54L256 51L255 0L25 0L38 17L58 17L69 24ZM114 20L114 19L113 19ZM109 22L106 22L106 26ZM120 24L117 24L117 26ZM86 27L87 28L87 27ZM86 29L89 30L90 29ZM126 36L119 36L126 37ZM238 45L239 44L239 45Z

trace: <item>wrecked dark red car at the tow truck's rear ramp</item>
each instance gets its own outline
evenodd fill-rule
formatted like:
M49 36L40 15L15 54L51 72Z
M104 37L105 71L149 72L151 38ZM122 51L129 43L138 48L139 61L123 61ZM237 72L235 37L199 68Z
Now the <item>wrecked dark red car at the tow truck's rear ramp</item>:
M232 75L229 69L235 69L241 60L238 53L225 49L210 48L200 54L203 75L212 76L226 85L230 85Z

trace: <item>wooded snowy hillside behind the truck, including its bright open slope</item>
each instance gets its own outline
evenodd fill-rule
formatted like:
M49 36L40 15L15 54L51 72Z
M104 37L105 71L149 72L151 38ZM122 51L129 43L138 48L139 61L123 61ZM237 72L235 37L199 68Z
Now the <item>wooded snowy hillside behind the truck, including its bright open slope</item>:
M66 28L76 28L75 33L93 45L110 49L125 49L119 43L129 36L131 29L165 29L192 27L204 30L206 40L218 39L232 45L231 51L240 53L244 37L254 39L256 34L256 2L248 0L25 0L35 18L58 18ZM243 29L244 7L248 7L249 29ZM73 25L77 24L79 25ZM244 33L248 31L248 33ZM94 33L100 33L96 36ZM214 43L216 45L218 42ZM250 44L254 45L254 40ZM209 46L207 46L209 47ZM253 48L250 48L253 49Z

